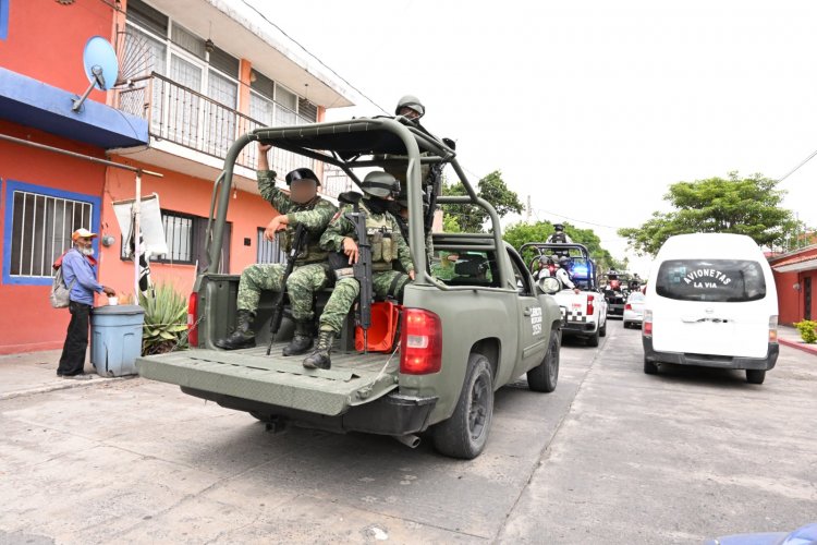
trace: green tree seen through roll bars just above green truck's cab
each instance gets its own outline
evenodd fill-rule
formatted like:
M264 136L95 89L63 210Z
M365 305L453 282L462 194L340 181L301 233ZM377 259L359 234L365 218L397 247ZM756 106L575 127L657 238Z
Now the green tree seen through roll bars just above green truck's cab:
M461 183L443 184L442 194L447 196L467 195ZM508 189L504 180L502 180L502 172L499 170L495 170L479 180L477 195L492 204L500 218L512 211L522 213L522 203L519 195ZM490 219L484 208L474 205L443 205L443 226L450 226L452 225L450 221L455 221L459 230L467 233L481 232L483 226ZM448 229L446 230L448 231Z

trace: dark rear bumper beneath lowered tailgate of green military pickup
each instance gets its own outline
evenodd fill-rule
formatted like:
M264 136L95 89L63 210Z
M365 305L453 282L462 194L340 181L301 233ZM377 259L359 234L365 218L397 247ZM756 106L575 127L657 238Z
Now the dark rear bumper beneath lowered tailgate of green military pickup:
M370 403L351 407L343 414L327 416L185 386L181 388L184 393L215 401L227 409L252 413L260 421L291 422L303 427L336 433L364 432L398 436L425 431L428 427L428 416L438 399L401 396L398 392L391 392Z

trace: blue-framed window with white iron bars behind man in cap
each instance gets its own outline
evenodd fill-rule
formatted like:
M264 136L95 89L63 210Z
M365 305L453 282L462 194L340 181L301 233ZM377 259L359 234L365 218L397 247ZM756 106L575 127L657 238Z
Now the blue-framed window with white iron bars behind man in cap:
M50 282L51 265L73 245L71 234L99 226L97 197L10 181L5 203L5 283Z

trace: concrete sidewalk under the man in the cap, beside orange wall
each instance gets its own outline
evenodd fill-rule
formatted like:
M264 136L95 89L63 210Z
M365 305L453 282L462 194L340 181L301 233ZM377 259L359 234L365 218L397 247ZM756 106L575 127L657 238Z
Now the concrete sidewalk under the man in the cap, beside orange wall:
M0 400L68 388L98 386L111 380L129 378L106 378L97 375L87 356L85 373L93 377L90 380L72 380L58 377L57 365L60 362L61 353L60 350L48 350L45 352L0 355Z

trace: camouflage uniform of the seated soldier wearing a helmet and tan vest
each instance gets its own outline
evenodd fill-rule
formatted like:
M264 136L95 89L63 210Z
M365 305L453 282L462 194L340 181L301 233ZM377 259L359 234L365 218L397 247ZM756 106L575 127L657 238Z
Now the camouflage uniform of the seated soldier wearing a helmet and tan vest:
M400 262L403 270L411 272L414 270L414 263L403 235L400 233L400 226L390 213L373 214L366 208L366 199L361 202L361 209L366 213L367 228L377 226L387 227L387 234L391 235L391 251L378 250L373 243L371 252L371 291L375 296L386 298L392 295L400 299L403 295L403 289L408 283L410 278L406 274L392 270L393 262ZM320 246L325 250L342 252L343 239L350 237L357 241L354 225L346 219L345 213L352 211L351 206L346 206L336 215L332 222L320 238ZM371 227L369 227L371 226ZM385 239L386 240L386 239ZM391 254L391 255L383 255ZM386 261L387 257L391 257ZM332 295L320 315L320 330L332 331L334 335L340 334L343 320L352 308L352 305L361 292L361 286L353 277L345 277L338 280L334 284Z

